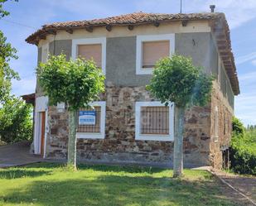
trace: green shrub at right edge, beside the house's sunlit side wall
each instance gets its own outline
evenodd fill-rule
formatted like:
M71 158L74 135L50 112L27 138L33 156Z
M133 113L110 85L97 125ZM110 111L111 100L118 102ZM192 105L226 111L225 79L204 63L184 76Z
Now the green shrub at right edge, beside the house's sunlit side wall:
M239 174L256 175L256 130L246 130L239 119L233 119L230 166Z

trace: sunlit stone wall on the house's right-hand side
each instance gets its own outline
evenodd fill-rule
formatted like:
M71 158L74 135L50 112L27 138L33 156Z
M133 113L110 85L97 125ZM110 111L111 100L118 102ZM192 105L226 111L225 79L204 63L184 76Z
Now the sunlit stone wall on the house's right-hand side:
M216 108L218 110L217 117L215 115ZM210 114L210 162L212 166L218 169L222 168L222 151L229 148L233 114L233 108L230 107L227 98L220 91L219 84L214 81ZM218 118L217 129L215 128L216 118ZM218 137L215 135L216 132Z

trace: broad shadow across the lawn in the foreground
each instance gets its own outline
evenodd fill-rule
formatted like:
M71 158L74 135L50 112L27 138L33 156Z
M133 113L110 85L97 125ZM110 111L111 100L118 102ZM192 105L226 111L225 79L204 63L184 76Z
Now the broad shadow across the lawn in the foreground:
M0 196L0 204L40 205L234 205L220 185L171 178L100 175L93 180L36 180Z

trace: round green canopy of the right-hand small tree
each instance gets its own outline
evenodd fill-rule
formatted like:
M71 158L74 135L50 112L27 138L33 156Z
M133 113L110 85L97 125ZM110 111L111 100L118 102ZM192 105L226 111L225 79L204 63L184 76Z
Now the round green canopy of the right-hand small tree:
M204 106L210 99L212 80L191 58L173 55L157 62L147 89L162 103L171 101L181 108Z

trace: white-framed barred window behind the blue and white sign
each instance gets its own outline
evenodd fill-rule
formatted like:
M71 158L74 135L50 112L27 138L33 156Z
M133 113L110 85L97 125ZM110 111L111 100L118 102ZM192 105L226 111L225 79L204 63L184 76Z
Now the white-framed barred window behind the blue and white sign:
M90 103L94 108L82 108L83 111L94 111L95 122L90 125L78 125L76 137L85 139L104 139L105 137L105 118L106 102L99 101Z

